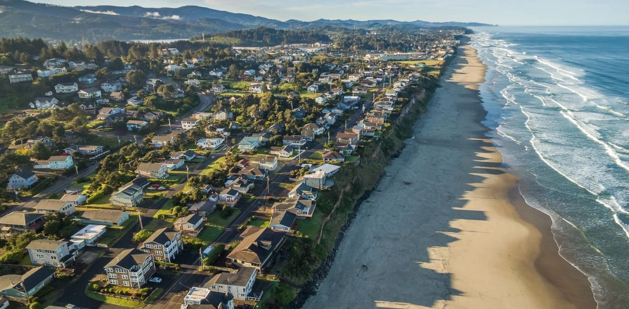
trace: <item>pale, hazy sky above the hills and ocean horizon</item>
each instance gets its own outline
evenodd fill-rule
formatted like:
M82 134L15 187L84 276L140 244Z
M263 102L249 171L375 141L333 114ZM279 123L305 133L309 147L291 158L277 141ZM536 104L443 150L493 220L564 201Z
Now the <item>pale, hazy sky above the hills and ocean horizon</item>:
M33 0L31 0L33 1ZM35 0L64 6L205 6L276 20L463 21L493 25L629 25L627 0Z

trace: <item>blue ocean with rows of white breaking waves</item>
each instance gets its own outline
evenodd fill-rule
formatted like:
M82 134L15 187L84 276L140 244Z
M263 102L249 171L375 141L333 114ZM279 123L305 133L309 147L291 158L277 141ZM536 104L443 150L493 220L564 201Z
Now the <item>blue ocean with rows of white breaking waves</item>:
M599 308L629 308L629 27L479 27L486 125Z

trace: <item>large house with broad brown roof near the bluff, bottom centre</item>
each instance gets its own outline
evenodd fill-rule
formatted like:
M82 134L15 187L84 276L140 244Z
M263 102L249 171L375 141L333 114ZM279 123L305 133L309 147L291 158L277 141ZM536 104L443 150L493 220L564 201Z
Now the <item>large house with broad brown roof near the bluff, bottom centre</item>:
M286 232L271 230L270 228L247 227L240 234L240 244L234 247L227 259L232 264L253 267L262 271L274 253L284 243Z

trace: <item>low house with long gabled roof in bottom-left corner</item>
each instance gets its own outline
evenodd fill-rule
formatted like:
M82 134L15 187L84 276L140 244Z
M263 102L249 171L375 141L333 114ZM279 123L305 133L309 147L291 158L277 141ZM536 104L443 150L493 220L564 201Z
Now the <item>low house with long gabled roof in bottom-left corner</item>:
M26 301L50 283L54 276L55 269L43 266L22 275L5 274L0 276L0 293L9 300Z

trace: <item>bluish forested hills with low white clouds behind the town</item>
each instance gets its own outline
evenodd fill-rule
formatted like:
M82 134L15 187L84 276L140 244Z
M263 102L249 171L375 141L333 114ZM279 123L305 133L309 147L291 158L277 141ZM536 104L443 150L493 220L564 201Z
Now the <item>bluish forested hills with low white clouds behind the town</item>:
M0 37L42 37L46 40L99 41L189 38L201 33L257 28L421 28L479 26L481 23L430 23L395 20L279 21L250 14L230 13L201 6L143 8L141 6L64 7L24 0L0 0Z

